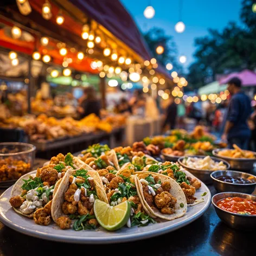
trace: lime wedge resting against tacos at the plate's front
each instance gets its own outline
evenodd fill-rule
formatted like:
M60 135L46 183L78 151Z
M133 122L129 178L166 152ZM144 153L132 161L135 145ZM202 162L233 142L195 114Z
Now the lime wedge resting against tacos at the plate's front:
M117 206L110 206L108 203L97 199L94 202L93 209L100 226L109 231L114 231L123 227L129 220L131 205L130 202L125 201L117 204Z

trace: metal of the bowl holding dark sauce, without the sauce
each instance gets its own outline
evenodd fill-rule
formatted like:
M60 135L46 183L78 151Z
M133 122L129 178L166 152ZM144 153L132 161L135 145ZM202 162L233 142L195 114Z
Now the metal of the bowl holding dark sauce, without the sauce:
M235 178L246 178L253 183L250 184L236 184L236 183L230 183L230 182L225 182L225 181L220 181L217 178L220 176L231 176ZM214 171L210 177L213 179L213 185L214 188L218 192L226 192L226 191L231 191L231 192L239 192L239 193L246 193L246 194L252 194L255 187L256 187L256 176L247 174L246 172L241 172L241 171Z

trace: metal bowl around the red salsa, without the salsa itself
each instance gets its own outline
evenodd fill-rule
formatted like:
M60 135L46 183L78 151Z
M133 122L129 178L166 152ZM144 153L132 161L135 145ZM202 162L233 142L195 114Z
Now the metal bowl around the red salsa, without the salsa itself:
M256 215L242 215L238 213L231 213L227 210L223 210L217 206L217 202L225 199L227 197L239 196L245 199L256 201L256 196L244 194L244 193L234 193L234 192L224 192L213 196L212 204L215 208L216 214L219 218L225 222L228 226L236 229L252 230L256 228Z

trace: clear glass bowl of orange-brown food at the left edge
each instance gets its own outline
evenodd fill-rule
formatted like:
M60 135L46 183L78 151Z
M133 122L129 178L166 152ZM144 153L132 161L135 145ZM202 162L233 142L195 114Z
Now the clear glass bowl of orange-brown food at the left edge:
M36 147L27 143L0 143L0 186L8 187L31 171Z

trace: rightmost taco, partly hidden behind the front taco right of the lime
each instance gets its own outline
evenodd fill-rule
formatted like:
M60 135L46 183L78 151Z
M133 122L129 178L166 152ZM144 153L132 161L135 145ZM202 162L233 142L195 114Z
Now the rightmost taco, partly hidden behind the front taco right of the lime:
M157 172L174 179L182 188L188 204L194 204L196 201L195 192L201 187L201 182L192 176L183 168L175 163L164 162L152 164L144 168L143 171Z

